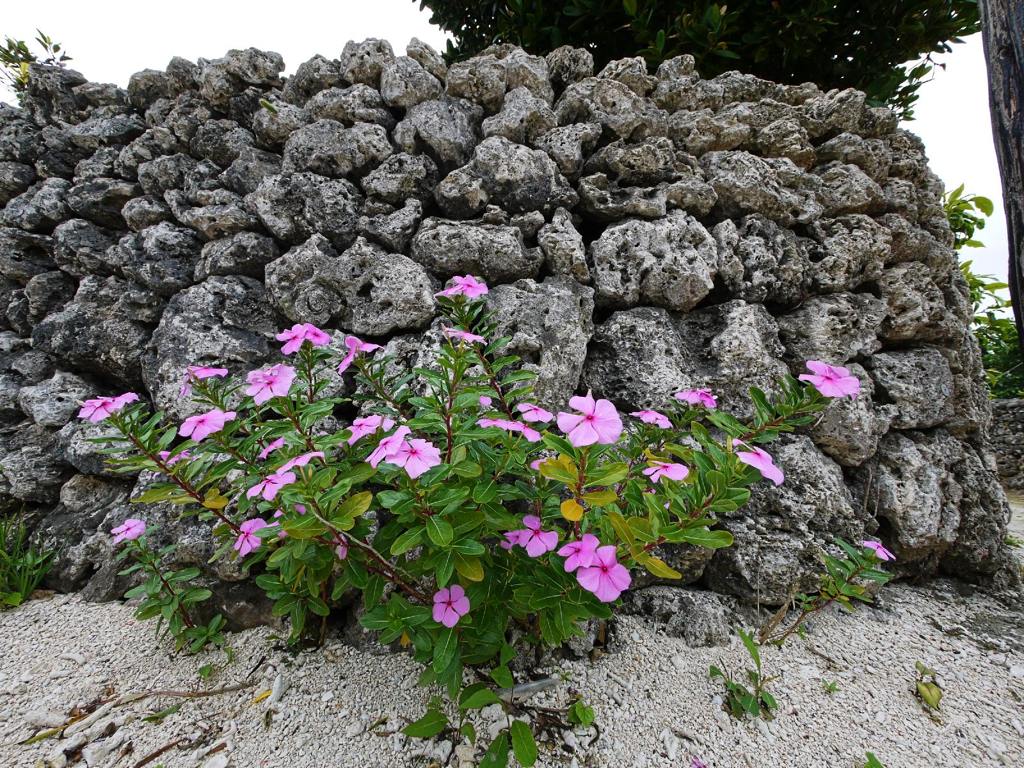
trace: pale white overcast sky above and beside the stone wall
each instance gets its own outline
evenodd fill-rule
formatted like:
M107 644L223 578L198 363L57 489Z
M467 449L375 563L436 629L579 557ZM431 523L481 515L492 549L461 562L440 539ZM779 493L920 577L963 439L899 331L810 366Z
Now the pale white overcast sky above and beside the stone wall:
M428 23L416 0L49 0L3 2L0 35L30 40L38 27L65 45L71 67L90 80L126 85L132 73L164 69L171 56L214 58L228 48L255 46L285 57L287 72L314 53L335 57L348 40L386 37L396 53L412 37L444 46L444 34ZM992 198L995 216L982 232L985 248L971 251L976 271L1007 274L1007 234L999 175L992 148L985 62L980 36L955 46L922 89L918 119L932 168L948 188ZM13 100L0 88L0 99Z

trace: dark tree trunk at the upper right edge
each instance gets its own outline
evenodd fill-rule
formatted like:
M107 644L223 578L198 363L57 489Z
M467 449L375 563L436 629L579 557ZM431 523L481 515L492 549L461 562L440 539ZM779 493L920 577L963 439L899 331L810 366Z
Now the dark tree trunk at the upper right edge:
M1010 244L1010 295L1024 349L1024 0L982 0L995 155Z

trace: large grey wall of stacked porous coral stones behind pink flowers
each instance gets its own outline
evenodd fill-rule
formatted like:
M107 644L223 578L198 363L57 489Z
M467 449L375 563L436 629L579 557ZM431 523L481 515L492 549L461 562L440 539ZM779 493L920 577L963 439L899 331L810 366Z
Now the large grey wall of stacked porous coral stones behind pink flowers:
M734 548L671 553L687 582L779 602L835 536L881 537L914 574L997 569L967 289L942 185L889 111L702 80L688 56L595 75L567 47L445 67L368 40L283 70L232 50L125 90L34 67L24 109L0 108L2 490L61 545L54 584L117 594L105 531L136 481L104 469L83 397L134 388L180 418L186 365L246 372L300 321L411 364L465 272L549 406L701 386L742 411L807 358L861 380L773 449L787 482L722 521ZM205 563L203 525L150 515Z

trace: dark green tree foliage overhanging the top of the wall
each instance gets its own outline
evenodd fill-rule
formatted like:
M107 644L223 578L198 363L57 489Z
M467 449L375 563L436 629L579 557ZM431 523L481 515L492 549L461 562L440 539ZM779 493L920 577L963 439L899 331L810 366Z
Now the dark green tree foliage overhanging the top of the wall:
M598 68L642 55L656 67L690 53L697 71L865 91L909 117L931 54L979 30L977 0L421 0L454 37L447 56L493 43L546 53L586 48ZM916 62L907 65L907 62Z

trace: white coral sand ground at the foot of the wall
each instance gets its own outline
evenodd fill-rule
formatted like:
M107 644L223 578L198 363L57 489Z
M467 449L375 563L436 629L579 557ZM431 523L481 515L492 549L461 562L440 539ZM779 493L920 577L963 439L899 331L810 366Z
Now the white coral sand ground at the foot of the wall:
M782 675L773 686L780 711L767 724L730 720L718 706L720 686L708 679L710 664L745 662L738 644L690 648L652 622L625 616L608 654L545 671L563 682L531 700L551 706L583 693L601 730L587 749L586 735L555 732L541 764L689 768L698 757L710 768L854 768L870 750L887 768L1024 766L1024 615L963 592L946 583L893 586L877 608L814 623L817 652L799 639L766 650L768 671ZM472 764L466 746L395 732L430 695L415 686L418 667L403 655L340 641L294 654L269 629L234 635L231 645L234 663L204 681L197 670L218 654L173 654L127 605L58 595L0 614L0 766ZM911 692L919 659L945 688L935 720ZM254 701L275 680L288 683L280 699ZM825 681L838 690L826 692ZM108 707L84 726L19 743L90 702L247 682L206 698ZM180 709L159 722L142 719L174 705ZM485 713L478 729L490 726Z

